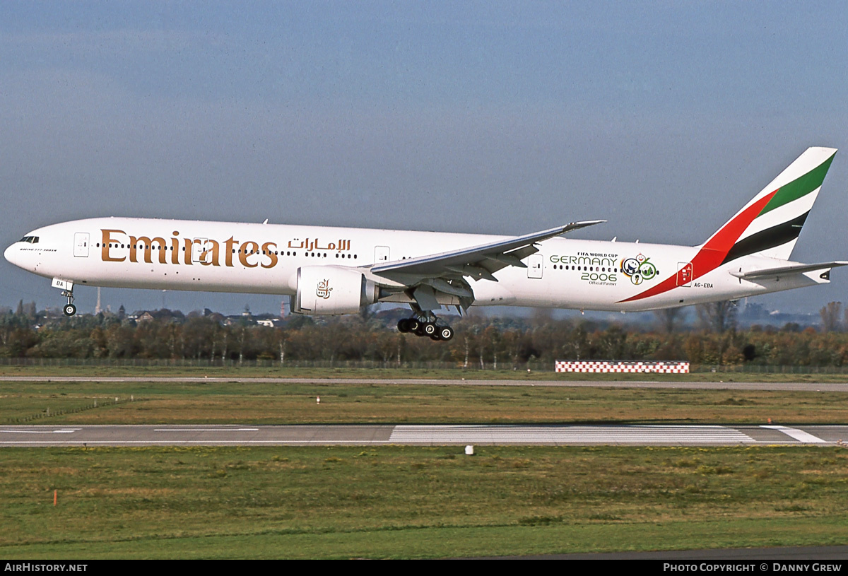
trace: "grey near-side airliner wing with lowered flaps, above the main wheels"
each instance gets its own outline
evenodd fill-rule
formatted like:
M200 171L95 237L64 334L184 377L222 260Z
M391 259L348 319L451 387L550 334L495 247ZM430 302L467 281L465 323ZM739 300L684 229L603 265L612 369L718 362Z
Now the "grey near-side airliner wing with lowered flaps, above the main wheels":
M438 309L438 292L459 297L466 307L471 305L474 294L465 277L498 282L494 272L506 266L527 267L522 259L538 252L535 243L600 222L605 220L571 222L565 226L493 243L407 260L394 260L371 266L369 270L378 277L403 284L405 291L416 300L422 310Z

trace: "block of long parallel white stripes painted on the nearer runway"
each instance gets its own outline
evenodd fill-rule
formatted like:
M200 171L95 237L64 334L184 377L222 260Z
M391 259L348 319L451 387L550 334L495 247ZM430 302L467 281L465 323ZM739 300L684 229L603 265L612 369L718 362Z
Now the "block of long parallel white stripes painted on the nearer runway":
M611 444L746 443L745 433L723 426L489 426L402 425L390 442L590 442Z

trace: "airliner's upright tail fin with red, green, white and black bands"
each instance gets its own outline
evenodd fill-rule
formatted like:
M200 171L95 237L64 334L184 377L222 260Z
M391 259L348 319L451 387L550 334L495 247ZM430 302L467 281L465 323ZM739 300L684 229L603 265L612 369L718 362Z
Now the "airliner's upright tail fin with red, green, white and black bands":
M722 264L748 254L789 260L836 148L807 148L703 244Z

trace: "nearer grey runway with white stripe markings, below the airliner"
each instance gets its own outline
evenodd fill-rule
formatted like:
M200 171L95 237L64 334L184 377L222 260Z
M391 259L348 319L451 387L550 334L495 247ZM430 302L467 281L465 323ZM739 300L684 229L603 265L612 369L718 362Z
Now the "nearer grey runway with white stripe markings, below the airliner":
M0 446L843 445L848 426L120 425L4 426Z

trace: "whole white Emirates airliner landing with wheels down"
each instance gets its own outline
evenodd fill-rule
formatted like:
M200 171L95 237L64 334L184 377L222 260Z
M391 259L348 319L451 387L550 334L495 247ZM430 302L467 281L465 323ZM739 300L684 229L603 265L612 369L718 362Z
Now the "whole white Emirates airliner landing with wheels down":
M834 159L808 148L699 246L558 238L602 221L520 237L265 223L92 218L44 226L6 260L53 278L73 316L74 287L289 294L300 314L410 305L401 332L453 330L443 305L656 310L829 282L848 261L789 260Z

